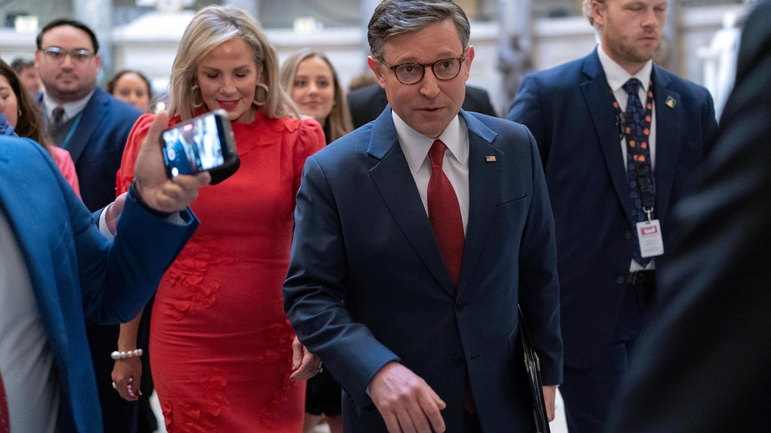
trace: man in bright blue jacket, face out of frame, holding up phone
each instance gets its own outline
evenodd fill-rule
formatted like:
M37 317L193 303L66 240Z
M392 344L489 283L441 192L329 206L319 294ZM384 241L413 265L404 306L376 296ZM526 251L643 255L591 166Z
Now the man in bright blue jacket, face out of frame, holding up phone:
M0 431L103 431L86 321L136 317L197 227L186 207L210 180L167 179L167 121L140 149L112 243L42 146L0 137Z

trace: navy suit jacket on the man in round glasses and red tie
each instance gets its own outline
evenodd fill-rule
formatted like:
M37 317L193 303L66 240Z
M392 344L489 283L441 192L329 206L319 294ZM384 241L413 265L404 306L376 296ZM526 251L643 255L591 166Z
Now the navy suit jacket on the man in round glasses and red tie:
M459 287L390 107L305 163L284 309L342 384L350 433L386 431L366 389L395 360L446 401L446 431L460 432L466 371L486 431L533 431L517 304L544 382L561 383L554 223L535 141L507 120L460 116L469 131L470 210Z

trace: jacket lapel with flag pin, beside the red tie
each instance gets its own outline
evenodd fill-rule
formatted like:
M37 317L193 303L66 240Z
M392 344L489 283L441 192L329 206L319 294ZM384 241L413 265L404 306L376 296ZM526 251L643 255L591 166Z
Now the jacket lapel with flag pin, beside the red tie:
M469 129L469 221L460 266L459 294L469 284L490 230L500 187L500 161L503 161L503 152L490 144L497 134L472 115L463 111L461 115ZM495 156L499 162L487 162L487 156Z

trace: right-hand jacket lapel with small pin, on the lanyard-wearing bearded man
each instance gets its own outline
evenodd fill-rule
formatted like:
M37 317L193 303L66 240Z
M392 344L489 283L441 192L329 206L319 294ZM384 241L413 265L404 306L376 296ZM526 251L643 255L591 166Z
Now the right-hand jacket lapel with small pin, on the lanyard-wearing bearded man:
M669 209L669 197L677 170L680 153L679 130L682 119L682 101L677 92L669 89L672 80L658 66L653 67L653 99L656 110L656 217L663 219ZM673 101L673 106L667 105ZM678 103L679 102L679 103ZM671 102L672 103L672 102Z

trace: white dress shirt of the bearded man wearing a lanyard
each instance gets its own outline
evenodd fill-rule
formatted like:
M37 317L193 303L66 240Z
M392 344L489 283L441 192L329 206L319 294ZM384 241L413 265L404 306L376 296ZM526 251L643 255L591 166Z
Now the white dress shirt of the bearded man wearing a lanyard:
M633 76L627 72L626 69L622 68L621 65L618 65L618 63L614 62L614 60L605 53L604 49L602 49L602 44L597 47L597 54L600 56L600 63L602 64L602 69L605 71L605 77L608 79L608 86L611 86L611 90L613 90L613 95L616 97L616 101L618 102L618 106L621 107L621 111L626 112L627 101L629 99L626 90L624 90L624 85L632 78L636 78L642 83L638 93L640 96L640 102L642 102L642 106L645 107L645 104L648 102L648 86L651 84L653 60L648 60L648 62L645 63L645 66L643 66L642 69L640 69L640 71ZM651 104L653 105L653 110L651 114L651 134L648 136L648 150L651 152L651 170L653 170L656 166L656 105L655 102L653 102L653 99L651 99ZM624 165L624 170L626 171L626 138L621 139L621 155L624 156L624 159L621 160L621 163ZM651 259L647 267L641 267L640 263L637 263L634 259L632 259L629 271L634 272L635 270L655 269L654 261L655 259Z

